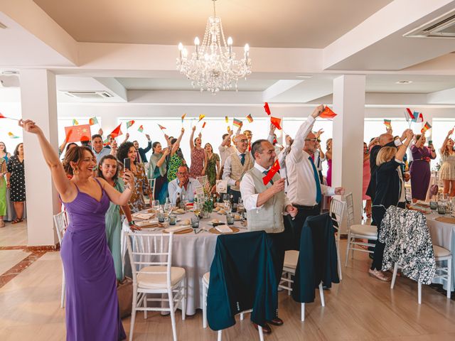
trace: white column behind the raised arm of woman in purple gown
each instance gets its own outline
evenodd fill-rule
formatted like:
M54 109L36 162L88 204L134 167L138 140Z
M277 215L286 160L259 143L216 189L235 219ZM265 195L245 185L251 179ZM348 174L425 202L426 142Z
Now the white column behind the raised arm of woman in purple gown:
M41 127L58 149L55 75L48 70L21 70L23 119ZM53 215L60 211L58 194L50 178L36 135L23 133L25 159L28 246L55 246Z

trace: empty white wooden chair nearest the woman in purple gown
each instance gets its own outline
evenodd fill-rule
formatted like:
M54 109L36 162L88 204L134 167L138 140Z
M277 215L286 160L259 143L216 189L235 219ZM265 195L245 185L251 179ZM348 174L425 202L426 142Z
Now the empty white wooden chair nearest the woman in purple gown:
M177 340L175 311L182 305L182 320L186 313L186 272L171 266L173 233L145 234L124 232L133 273L133 302L129 341L133 340L134 320L138 310L168 311L171 315L173 340ZM148 294L165 294L167 298L148 298ZM149 307L148 302L168 302Z

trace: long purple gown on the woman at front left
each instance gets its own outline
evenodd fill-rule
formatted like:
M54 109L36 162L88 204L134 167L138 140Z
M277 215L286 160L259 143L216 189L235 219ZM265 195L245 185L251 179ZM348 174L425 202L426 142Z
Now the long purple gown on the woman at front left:
M119 317L114 261L106 239L109 202L104 189L97 201L77 188L75 200L64 203L69 224L60 254L66 282L67 341L126 338Z

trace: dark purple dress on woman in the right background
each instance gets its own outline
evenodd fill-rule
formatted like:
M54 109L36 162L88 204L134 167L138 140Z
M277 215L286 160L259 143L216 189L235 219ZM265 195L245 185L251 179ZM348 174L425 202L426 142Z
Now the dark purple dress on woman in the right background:
M429 168L432 153L425 146L417 148L415 145L411 147L411 152L413 160L410 168L412 197L417 200L425 200L432 175Z

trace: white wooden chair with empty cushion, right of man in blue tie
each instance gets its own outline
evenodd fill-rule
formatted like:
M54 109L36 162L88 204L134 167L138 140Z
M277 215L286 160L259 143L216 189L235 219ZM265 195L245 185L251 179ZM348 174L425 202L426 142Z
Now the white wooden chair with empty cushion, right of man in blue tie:
M348 245L346 247L346 262L344 266L348 266L349 251L351 251L351 258L354 258L354 251L374 253L374 250L369 250L368 247L374 248L375 244L359 242L358 239L378 240L377 227L374 225L354 224L353 193L346 195L346 204L348 209Z

